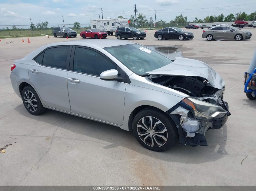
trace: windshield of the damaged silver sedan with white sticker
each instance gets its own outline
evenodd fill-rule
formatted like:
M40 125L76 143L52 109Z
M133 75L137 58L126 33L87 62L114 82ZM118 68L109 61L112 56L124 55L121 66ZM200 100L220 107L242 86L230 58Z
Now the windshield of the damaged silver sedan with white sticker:
M104 49L138 75L145 75L146 72L161 68L172 62L167 57L139 44L126 44Z

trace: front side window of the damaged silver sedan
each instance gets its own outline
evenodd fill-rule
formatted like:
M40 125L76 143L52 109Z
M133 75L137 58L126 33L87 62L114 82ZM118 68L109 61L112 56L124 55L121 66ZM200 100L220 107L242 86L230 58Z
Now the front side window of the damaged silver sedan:
M74 71L100 76L101 72L117 69L117 66L91 49L75 48Z

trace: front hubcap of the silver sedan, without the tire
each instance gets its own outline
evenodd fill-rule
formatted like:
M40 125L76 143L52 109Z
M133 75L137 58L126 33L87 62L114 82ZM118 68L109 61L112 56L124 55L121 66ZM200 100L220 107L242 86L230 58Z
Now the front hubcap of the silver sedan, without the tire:
M159 119L151 116L139 120L137 132L140 139L151 147L163 146L168 138L165 125Z

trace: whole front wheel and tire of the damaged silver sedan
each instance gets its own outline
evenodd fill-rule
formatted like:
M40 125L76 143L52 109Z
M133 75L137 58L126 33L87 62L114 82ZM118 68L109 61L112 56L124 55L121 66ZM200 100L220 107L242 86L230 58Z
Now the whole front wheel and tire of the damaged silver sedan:
M170 116L155 108L145 108L137 113L132 130L138 142L152 151L169 149L175 144L178 134Z

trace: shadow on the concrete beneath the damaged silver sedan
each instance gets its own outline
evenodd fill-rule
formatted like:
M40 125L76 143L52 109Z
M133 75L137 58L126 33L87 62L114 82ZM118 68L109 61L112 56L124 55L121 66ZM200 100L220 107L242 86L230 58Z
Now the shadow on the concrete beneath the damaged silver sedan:
M179 145L177 140L171 149L165 152L155 152L141 146L132 132L125 131L115 126L50 109L42 115L34 116L28 113L23 104L15 107L15 110L27 119L34 119L48 123L50 125L48 129L56 129L56 127L59 126L59 128L68 130L67 132L70 131L72 133L82 135L81 141L91 137L93 139L110 143L109 145L103 145L102 147L104 149L121 146L162 161L179 162L184 164L200 164L209 161L216 161L227 154L225 150L228 133L226 125L221 129L209 130L206 132L206 139L208 142L207 147ZM56 123L56 121L58 123ZM59 129L58 132L55 132L55 137L65 139L63 136L67 136L67 138L70 138L70 135L60 134L60 132L61 129Z

